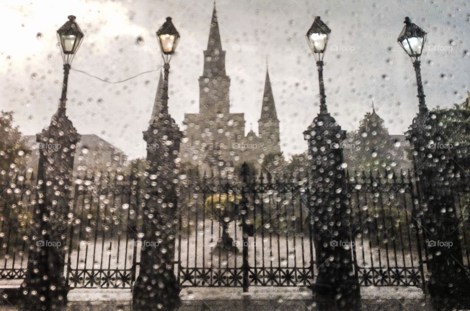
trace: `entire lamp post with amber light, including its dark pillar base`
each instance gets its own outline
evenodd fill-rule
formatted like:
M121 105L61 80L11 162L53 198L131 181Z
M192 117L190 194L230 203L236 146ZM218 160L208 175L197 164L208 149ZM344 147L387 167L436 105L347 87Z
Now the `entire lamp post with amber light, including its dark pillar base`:
M174 272L177 225L177 158L183 136L168 113L169 62L180 35L167 17L157 31L164 59L162 110L151 120L143 139L147 143L146 198L143 207L141 265L134 284L135 311L175 310L180 305L180 287ZM154 148L153 146L158 146Z

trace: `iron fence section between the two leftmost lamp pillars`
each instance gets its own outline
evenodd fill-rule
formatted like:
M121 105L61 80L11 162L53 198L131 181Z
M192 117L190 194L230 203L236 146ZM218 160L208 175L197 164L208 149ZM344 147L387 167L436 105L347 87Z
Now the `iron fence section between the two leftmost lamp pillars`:
M75 179L66 258L71 288L132 288L140 253L140 182L120 171Z

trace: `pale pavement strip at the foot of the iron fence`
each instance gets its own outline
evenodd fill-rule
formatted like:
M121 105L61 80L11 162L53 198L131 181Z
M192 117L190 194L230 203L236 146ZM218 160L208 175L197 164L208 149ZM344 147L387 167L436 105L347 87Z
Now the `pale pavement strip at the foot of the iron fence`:
M418 288L361 288L362 310L432 310ZM69 311L131 311L129 289L73 289ZM306 288L187 288L181 292L180 311L314 311L316 304ZM17 310L0 305L0 311Z

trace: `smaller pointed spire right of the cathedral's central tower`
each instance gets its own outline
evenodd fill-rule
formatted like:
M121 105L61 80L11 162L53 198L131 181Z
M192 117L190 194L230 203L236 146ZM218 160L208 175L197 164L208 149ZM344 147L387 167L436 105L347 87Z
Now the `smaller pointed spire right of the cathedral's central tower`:
M266 79L264 82L261 117L258 120L259 140L266 146L265 154L281 152L279 138L279 119L274 104L269 70L266 64Z

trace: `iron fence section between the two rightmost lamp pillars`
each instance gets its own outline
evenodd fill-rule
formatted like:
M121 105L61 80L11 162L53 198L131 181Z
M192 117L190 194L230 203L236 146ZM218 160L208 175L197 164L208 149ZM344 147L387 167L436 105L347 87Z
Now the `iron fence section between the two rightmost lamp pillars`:
M424 286L419 197L410 172L348 176L352 249L362 286Z

